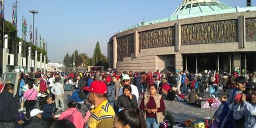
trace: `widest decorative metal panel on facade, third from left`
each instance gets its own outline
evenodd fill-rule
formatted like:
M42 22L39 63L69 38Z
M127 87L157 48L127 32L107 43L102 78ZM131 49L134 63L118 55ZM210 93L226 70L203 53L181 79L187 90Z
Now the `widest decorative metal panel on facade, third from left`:
M181 25L181 45L238 42L237 20Z

